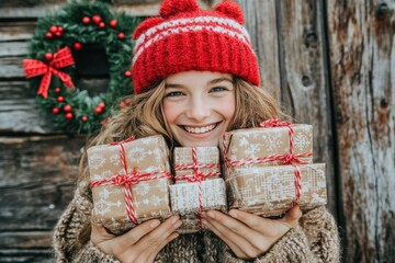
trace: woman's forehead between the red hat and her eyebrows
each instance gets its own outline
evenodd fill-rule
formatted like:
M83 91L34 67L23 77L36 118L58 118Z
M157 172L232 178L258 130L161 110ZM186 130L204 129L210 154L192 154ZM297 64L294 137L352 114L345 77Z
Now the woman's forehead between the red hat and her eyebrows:
M217 79L228 79L232 81L232 75L212 71L183 71L167 77L166 84L208 83Z

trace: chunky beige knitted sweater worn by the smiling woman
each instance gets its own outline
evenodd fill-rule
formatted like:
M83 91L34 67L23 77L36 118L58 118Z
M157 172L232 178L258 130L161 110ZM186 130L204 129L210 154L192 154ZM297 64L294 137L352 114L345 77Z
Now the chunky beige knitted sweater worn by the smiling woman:
M91 191L80 184L75 197L60 217L54 233L57 262L119 262L92 242L78 239L83 225L90 222ZM267 253L252 262L339 262L337 226L325 207L303 215L297 228L285 233ZM214 233L181 235L167 244L155 262L245 262Z

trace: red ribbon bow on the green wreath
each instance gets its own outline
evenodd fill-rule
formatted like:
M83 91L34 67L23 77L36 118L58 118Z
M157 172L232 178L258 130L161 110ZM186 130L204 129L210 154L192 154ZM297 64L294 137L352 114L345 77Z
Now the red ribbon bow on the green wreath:
M48 98L48 88L50 83L52 75L58 77L66 87L75 88L71 77L65 72L59 71L59 68L65 68L75 64L69 47L64 47L54 54L54 58L49 65L36 59L23 59L23 68L25 70L26 78L44 75L40 84L37 95L42 94L45 99Z

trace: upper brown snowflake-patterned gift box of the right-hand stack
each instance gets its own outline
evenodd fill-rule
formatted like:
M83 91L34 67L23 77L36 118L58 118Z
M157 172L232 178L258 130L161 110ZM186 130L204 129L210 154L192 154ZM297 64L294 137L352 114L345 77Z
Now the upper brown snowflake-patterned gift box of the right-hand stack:
M290 147L300 161L313 162L313 126L293 124L292 137L290 127L259 127L237 129L224 133L219 140L223 159L225 159L224 176L232 176L234 168L281 165ZM293 144L291 144L291 140Z

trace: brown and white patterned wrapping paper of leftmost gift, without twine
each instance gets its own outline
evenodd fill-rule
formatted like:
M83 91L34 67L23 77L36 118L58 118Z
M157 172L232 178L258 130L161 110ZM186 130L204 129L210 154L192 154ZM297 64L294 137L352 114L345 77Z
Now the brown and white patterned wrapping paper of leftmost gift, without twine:
M151 136L123 144L128 172L138 163L138 172L168 171L168 148L161 136ZM119 145L95 146L88 149L91 181L124 174ZM92 163L92 165L91 165ZM154 174L153 176L160 175ZM137 221L171 215L168 179L157 179L132 185ZM92 188L93 207L98 220L111 232L121 233L133 227L125 207L125 187L101 185Z

